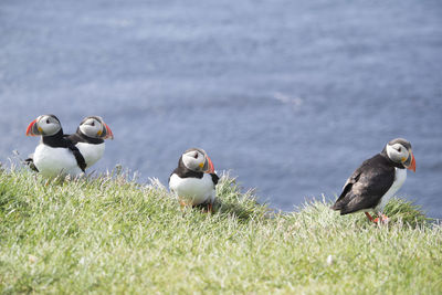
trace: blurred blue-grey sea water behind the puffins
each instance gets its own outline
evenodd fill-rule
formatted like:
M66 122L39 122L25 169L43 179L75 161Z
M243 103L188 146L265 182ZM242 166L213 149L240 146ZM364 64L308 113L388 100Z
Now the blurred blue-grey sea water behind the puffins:
M202 147L285 211L334 200L362 160L409 139L399 196L442 218L442 2L0 2L0 161L41 114L114 131L95 169L166 185Z

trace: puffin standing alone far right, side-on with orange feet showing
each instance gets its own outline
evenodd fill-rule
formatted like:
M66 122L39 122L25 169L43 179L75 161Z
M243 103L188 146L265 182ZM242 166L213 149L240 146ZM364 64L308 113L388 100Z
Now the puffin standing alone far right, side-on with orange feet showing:
M371 222L388 222L382 210L406 181L407 169L415 172L411 144L403 138L392 139L381 152L355 170L332 209L341 215L365 211ZM368 211L378 218L373 219Z

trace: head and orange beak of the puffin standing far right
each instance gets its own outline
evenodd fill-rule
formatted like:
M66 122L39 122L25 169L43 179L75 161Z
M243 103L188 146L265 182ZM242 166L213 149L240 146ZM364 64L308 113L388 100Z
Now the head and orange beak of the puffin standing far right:
M415 160L411 144L403 138L390 140L383 151L387 157L398 164L400 168L407 168L415 172Z

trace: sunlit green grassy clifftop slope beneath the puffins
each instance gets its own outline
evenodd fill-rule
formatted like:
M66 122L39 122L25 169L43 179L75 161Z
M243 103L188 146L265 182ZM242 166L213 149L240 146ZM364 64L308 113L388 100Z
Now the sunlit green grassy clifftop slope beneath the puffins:
M324 200L272 213L229 177L218 194L206 214L122 173L2 171L0 293L442 294L442 228L408 202L375 225Z

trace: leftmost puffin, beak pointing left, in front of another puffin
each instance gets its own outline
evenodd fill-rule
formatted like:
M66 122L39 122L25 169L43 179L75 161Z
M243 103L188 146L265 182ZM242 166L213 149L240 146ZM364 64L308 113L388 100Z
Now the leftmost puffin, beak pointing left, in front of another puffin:
M31 122L27 136L41 136L33 156L27 159L31 169L45 177L78 176L86 169L86 161L78 148L67 140L55 115L41 115Z

